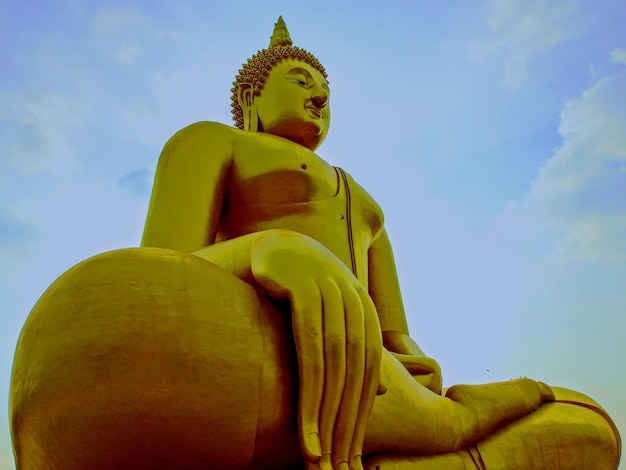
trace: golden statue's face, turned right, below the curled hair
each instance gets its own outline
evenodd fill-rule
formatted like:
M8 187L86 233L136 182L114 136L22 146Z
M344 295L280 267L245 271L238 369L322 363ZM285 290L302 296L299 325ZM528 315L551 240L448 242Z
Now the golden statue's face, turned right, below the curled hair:
M259 131L277 135L315 150L330 125L330 89L324 76L306 62L279 62L254 98Z

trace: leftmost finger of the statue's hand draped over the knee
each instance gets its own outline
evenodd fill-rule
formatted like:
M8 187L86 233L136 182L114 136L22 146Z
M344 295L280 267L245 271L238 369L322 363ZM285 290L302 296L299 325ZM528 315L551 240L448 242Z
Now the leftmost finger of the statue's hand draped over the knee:
M292 291L290 300L300 370L300 448L307 461L316 462L322 455L318 423L324 386L322 296L311 281Z

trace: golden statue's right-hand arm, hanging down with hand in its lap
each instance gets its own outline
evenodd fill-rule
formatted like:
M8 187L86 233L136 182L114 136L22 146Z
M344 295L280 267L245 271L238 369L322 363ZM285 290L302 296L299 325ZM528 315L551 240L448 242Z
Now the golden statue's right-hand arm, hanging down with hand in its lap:
M396 264L387 232L374 241L368 256L369 293L376 305L383 345L418 380L435 392L441 390L441 370L409 336Z

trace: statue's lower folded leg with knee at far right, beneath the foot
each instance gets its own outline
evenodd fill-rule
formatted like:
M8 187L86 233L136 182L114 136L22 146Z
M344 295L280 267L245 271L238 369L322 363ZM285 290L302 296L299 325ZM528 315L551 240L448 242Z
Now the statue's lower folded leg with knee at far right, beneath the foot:
M608 415L590 398L555 388L557 401L456 453L376 454L368 470L614 470L621 442Z

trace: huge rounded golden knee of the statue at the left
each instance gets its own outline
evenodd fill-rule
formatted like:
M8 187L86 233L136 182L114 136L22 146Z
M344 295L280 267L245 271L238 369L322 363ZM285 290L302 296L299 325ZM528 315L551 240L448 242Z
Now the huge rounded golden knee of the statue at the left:
M288 314L195 256L86 260L50 286L18 342L18 468L245 468L271 444L297 462L290 348Z

